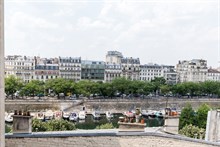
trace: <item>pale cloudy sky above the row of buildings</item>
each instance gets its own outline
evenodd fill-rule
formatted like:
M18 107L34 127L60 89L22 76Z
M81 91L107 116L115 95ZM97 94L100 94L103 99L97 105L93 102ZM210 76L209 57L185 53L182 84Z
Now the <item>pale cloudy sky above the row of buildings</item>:
M5 0L5 55L220 65L220 0Z

